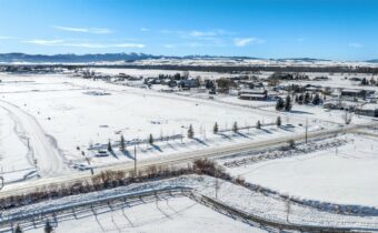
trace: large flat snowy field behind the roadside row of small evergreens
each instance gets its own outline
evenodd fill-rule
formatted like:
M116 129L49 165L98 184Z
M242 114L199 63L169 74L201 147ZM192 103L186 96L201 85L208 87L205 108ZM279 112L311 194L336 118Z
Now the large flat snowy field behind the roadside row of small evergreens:
M73 168L74 164L88 165L86 158L94 166L132 162L132 144L136 141L147 141L150 133L156 143L152 146L139 143L139 159L304 131L302 126L296 124L290 130L265 126L263 130L248 129L235 134L231 129L236 121L239 128L255 126L258 120L262 124L273 123L278 114L103 81L60 74L1 74L0 79L0 107L11 111L13 116L10 120L18 121L23 128L21 134L31 140L29 151L39 155L37 166L41 166L39 174L42 176L66 173L67 166ZM289 120L285 118L282 123ZM220 131L228 131L215 135L215 122L218 122ZM295 122L304 124L305 119L298 118L289 123ZM193 140L187 139L190 124L195 131ZM12 135L13 140L19 134ZM126 154L118 146L121 134L129 145ZM159 139L171 135L183 135L183 139L159 142ZM109 140L115 146L115 154L96 158L97 150L88 151L89 148L106 149ZM22 150L22 146L18 150ZM12 158L12 153L4 153L3 156ZM26 152L18 154L17 160L30 158ZM12 170L13 164L6 160L1 164L4 171ZM33 165L33 159L29 159L28 164Z

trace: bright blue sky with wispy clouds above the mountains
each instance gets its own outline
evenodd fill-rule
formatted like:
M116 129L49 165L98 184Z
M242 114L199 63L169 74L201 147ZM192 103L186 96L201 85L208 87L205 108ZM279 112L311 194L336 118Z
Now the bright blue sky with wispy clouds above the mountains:
M378 58L375 0L0 0L0 53Z

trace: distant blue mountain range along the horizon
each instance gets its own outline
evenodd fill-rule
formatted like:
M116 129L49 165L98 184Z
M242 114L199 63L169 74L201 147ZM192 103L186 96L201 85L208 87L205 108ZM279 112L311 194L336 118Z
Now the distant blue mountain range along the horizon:
M0 53L0 62L29 62L29 63L88 63L88 62L115 62L125 61L132 62L148 59L232 59L232 60L270 60L270 61L296 61L296 62L319 62L330 61L325 59L311 59L311 58L286 58L286 59L259 59L252 57L217 57L217 55L186 55L186 57L167 57L167 55L152 55L145 53L101 53L101 54L26 54L26 53ZM369 60L367 62L378 63L377 60Z

